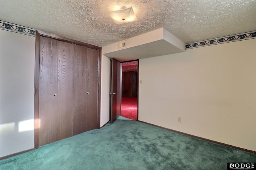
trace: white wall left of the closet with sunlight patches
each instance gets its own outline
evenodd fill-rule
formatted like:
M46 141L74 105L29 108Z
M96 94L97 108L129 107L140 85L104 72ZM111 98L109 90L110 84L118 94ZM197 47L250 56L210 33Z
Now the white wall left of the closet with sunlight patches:
M0 157L34 148L35 37L0 29Z

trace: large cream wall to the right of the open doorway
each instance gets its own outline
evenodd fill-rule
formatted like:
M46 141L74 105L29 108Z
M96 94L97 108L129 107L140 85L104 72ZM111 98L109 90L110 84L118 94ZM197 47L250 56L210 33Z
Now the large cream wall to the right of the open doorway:
M141 59L139 120L256 151L255 46L250 39Z

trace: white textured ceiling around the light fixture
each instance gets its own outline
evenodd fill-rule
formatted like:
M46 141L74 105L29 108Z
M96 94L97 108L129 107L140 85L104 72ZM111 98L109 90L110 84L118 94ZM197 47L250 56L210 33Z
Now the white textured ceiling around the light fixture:
M138 21L109 11L132 6ZM256 30L256 0L1 0L0 20L104 47L160 27L184 43Z

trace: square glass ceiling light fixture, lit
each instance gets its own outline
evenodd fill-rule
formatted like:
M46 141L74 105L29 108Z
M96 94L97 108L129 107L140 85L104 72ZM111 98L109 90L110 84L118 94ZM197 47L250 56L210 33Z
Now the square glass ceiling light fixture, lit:
M127 23L137 21L137 17L133 12L132 7L122 7L120 10L109 12L110 17L116 24Z

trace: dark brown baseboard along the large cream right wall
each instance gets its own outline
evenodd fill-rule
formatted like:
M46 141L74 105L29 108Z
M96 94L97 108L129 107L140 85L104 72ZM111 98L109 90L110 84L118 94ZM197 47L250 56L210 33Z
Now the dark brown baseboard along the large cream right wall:
M139 122L142 122L142 123L146 123L146 124L148 124L148 125L155 126L155 127L160 127L160 128L162 128L162 129L166 129L166 130L168 130L168 131L173 131L173 132L181 133L181 134L183 134L183 135L187 135L187 136L194 137L194 138L197 138L197 139L202 139L202 140L204 140L204 141L208 141L208 142L216 143L216 144L219 144L219 145L224 145L224 146L226 146L226 147L230 147L230 148L234 148L234 149L238 149L238 150L243 150L243 151L245 151L245 152L250 152L250 153L256 154L256 151L254 151L254 150L248 150L248 149L244 149L244 148L240 148L240 147L235 147L235 146L233 146L233 145L228 145L228 144L226 144L226 143L221 143L221 142L217 142L217 141L212 141L212 140L210 140L210 139L198 137L198 136L195 136L195 135L190 135L190 134L188 134L188 133L184 133L184 132L180 132L180 131L168 129L168 128L166 128L166 127L154 125L154 124L147 123L147 122L144 122L144 121L140 121L140 120L138 120L138 121L139 121Z

